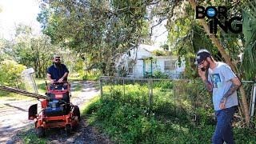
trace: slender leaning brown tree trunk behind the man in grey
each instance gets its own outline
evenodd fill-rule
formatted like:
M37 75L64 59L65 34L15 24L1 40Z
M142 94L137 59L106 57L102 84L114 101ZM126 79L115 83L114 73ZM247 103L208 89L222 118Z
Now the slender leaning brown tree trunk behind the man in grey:
M190 1L190 5L195 10L196 2L194 2L194 0L189 0L189 1ZM218 41L218 38L216 38L214 34L210 34L210 29L206 23L206 20L199 19L199 21L201 22L204 30L206 31L206 34L208 34L210 36L211 41L214 42L214 45L217 46L218 50L221 52L222 57L225 59L226 63L231 67L232 70L234 70L234 73L238 74L238 70L236 69L236 66L234 65L233 62L231 62L230 56L226 54L226 51L225 51L224 47L221 45L221 43ZM242 95L242 108L245 113L244 115L246 117L246 123L248 123L248 122L250 122L250 113L249 113L248 103L246 101L246 92L245 92L243 86L240 86L240 92Z

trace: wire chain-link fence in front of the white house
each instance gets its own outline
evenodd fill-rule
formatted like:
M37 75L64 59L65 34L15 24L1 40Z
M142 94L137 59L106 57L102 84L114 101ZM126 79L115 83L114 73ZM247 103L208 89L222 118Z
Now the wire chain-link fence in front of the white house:
M250 115L254 117L255 82L242 81L242 85L246 90L247 102L250 102ZM196 121L198 113L206 110L214 116L212 96L201 79L101 77L100 91L102 98L110 96L121 102L142 106L147 114L168 116L190 111L190 117ZM241 107L239 92L238 100ZM238 116L242 113L240 110Z

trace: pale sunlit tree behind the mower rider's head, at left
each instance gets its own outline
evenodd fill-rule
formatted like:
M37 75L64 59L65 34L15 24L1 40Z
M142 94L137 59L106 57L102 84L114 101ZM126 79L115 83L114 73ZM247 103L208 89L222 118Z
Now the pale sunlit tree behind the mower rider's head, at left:
M34 36L31 27L22 24L17 26L13 41L4 40L2 50L6 58L33 67L39 78L45 77L46 68L51 63L51 54L57 51L50 44L49 37Z

